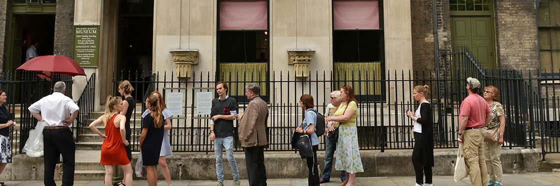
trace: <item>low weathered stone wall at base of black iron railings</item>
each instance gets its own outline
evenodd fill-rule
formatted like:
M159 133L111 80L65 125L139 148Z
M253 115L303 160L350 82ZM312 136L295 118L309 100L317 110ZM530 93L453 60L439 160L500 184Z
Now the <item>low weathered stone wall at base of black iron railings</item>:
M99 152L99 151L97 151ZM502 150L501 160L504 173L526 173L538 171L538 162L542 159L540 149L512 149ZM274 152L272 152L274 153ZM363 173L358 177L388 177L388 176L413 176L414 169L410 157L412 152L374 152L361 151ZM137 155L133 155L136 159ZM245 156L242 152L234 155L239 166L241 179L247 179ZM454 163L457 158L456 150L434 152L435 167L433 175L453 175ZM319 169L322 170L324 153L318 152ZM306 160L293 152L265 153L264 162L268 178L307 178ZM133 162L136 162L134 160ZM178 154L167 156L167 164L171 170L171 179L174 180L212 180L216 179L216 158L213 154L192 155ZM232 179L231 169L224 156L223 159L225 179ZM399 165L396 167L395 165ZM59 166L57 166L59 169ZM158 167L159 168L159 167ZM333 166L334 170L334 166ZM8 164L2 175L10 175L12 180L42 180L43 159L29 158L26 155L16 155L12 164ZM17 173L17 174L15 174ZM333 171L332 178L339 177L338 171ZM163 175L159 175L164 179ZM5 178L5 177L3 177ZM55 174L60 179L60 174ZM99 180L101 180L99 178ZM138 178L134 178L138 179Z

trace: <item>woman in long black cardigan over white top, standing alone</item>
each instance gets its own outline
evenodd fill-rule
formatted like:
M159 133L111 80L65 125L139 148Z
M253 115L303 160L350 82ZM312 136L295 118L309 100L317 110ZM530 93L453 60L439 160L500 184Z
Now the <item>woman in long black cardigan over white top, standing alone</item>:
M420 103L416 112L407 111L408 117L414 120L414 150L412 151L412 164L416 172L416 185L432 186L433 166L433 121L432 107L426 100L428 85L414 87L412 96L414 101ZM423 175L426 175L424 184Z

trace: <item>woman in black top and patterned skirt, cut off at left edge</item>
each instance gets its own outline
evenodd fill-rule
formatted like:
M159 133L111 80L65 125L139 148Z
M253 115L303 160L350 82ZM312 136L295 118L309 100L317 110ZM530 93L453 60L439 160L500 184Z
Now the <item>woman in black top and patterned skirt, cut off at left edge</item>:
M10 141L10 127L15 126L16 123L10 120L10 113L8 108L4 105L6 103L6 92L0 89L0 174L6 164L12 163L12 142ZM4 185L4 182L0 182Z

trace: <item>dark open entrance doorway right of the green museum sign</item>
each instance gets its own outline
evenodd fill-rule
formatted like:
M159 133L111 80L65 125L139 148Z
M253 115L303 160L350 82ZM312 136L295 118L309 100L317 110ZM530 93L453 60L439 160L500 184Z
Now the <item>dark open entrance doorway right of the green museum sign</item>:
M141 98L152 70L153 1L120 0L117 38L115 78L130 80Z

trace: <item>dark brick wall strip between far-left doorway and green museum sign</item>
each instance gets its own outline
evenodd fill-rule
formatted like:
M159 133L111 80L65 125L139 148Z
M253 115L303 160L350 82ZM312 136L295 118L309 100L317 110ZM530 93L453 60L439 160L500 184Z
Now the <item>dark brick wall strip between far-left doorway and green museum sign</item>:
M74 0L57 1L54 20L54 54L72 58L73 53Z

